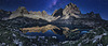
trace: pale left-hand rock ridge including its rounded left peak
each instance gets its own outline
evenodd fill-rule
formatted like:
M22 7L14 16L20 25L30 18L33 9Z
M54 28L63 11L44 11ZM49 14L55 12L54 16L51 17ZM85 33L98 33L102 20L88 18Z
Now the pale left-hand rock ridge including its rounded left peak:
M6 19L13 19L16 17L28 17L28 18L32 18L32 19L44 19L48 21L52 21L52 20L56 20L56 17L53 17L51 15L49 15L45 11L42 12L28 12L26 10L26 7L24 6L19 6L16 11L12 12L11 16Z

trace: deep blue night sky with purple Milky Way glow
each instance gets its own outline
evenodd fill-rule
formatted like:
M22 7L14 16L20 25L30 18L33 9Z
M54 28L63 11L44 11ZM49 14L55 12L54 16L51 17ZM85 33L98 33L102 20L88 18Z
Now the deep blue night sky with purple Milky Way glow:
M70 2L77 4L83 14L93 11L108 20L108 0L0 0L0 10L15 11L18 6L26 6L28 11L46 11L52 14Z

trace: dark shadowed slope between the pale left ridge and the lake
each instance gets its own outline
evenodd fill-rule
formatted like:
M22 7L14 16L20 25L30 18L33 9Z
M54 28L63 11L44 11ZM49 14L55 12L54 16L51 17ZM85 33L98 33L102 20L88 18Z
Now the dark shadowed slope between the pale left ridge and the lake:
M5 21L6 24L11 24L14 27L33 27L33 26L44 26L49 24L49 21L43 19L32 19L28 17L16 17Z

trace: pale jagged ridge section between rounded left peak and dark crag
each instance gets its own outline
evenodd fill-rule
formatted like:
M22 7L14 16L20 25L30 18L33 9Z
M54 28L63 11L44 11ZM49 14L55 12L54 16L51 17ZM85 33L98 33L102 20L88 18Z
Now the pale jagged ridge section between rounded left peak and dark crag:
M24 15L25 17L29 17L29 18L33 18L33 19L44 19L44 20L48 20L48 21L52 21L52 20L56 20L57 18L56 17L53 17L51 15L49 15L45 11L42 11L42 12L32 12L30 11L29 14L27 15Z

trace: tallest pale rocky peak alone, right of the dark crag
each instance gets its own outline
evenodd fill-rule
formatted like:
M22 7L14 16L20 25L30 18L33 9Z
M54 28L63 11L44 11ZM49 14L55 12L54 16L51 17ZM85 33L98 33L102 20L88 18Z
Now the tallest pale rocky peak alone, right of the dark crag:
M76 18L79 18L79 14L81 14L80 10L77 7L76 4L69 3L66 5L66 7L63 10L63 15L65 16L75 16Z

